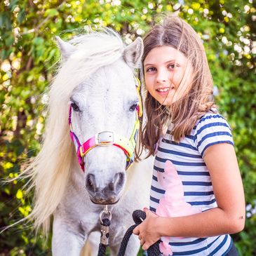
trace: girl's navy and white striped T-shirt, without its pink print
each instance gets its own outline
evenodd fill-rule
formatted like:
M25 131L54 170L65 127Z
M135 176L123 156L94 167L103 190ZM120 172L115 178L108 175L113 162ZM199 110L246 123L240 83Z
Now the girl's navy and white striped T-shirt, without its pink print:
M158 172L163 172L165 163L170 160L177 170L182 182L184 201L197 211L216 208L215 195L203 154L213 144L229 143L234 145L231 129L227 121L220 116L208 112L201 117L196 126L176 143L172 140L170 130L159 140L154 161L151 183L150 209L156 212L159 200L166 194L164 187L158 182ZM180 216L182 216L182 209ZM209 238L169 238L173 255L226 255L232 240L229 235Z

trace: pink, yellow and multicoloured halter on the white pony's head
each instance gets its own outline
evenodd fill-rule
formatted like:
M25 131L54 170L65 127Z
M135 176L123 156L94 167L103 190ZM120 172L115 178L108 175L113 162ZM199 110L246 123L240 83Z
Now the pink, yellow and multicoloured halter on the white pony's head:
M69 106L69 127L70 127L70 137L74 142L74 146L76 147L76 156L79 160L80 168L84 172L84 157L94 147L97 146L116 146L123 150L124 154L126 154L126 170L130 167L130 165L134 161L134 151L137 140L137 133L140 128L139 117L142 116L142 100L140 97L140 81L135 78L135 85L137 89L137 95L139 97L139 104L136 107L136 120L133 128L133 133L130 136L130 139L113 133L112 131L103 131L101 133L97 133L95 136L90 137L90 139L86 140L83 144L79 142L78 137L75 135L72 129L71 116L72 116L72 107Z

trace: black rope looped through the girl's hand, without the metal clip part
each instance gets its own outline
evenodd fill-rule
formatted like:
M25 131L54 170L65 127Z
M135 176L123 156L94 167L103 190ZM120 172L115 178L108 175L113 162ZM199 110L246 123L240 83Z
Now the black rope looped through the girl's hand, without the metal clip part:
M119 248L118 256L124 256L130 236L133 234L133 229L135 229L135 227L137 227L140 223L142 223L142 220L145 220L145 219L146 219L146 213L144 213L142 210L135 210L133 212L133 220L135 224L129 227L128 230L126 231L126 234L123 236L123 240ZM159 250L159 243L160 243L160 240L149 247L149 249L147 250L148 256L161 255L161 252Z

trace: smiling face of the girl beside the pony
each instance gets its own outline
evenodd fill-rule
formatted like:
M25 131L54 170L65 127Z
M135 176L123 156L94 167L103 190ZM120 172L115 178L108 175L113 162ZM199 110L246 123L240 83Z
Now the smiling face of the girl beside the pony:
M192 70L180 50L171 46L153 48L144 60L146 88L161 105L170 106L187 93Z

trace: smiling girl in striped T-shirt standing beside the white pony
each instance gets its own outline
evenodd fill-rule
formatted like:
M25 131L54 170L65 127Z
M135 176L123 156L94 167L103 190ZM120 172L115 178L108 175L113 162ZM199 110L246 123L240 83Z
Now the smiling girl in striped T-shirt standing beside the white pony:
M133 233L144 250L161 238L162 255L238 255L229 234L244 227L245 201L234 142L203 44L181 18L145 36L142 78L141 142L155 162L150 210Z

